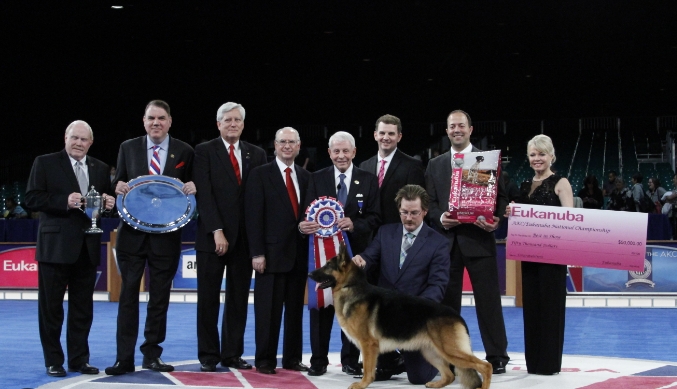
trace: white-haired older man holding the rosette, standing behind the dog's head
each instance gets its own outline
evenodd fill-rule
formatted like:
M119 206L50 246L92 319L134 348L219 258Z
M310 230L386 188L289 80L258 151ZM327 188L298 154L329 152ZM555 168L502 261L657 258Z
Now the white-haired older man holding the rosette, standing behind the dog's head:
M380 224L380 205L378 198L378 179L353 165L357 149L355 138L347 132L339 131L329 138L329 157L333 166L311 174L306 194L307 206L321 196L337 198L343 204L344 218L337 226L347 232L353 252L362 252L371 241L373 231ZM342 201L342 193L346 199ZM299 229L304 234L313 234L320 229L317 222L303 221ZM329 340L334 322L334 306L310 311L310 347L313 355L310 359L308 374L318 376L326 373L329 359ZM358 365L359 350L341 333L341 364L343 371L355 375L361 374Z

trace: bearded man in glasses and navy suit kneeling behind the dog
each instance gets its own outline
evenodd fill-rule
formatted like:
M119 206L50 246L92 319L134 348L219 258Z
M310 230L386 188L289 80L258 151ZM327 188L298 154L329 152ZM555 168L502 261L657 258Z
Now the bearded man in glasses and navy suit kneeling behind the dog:
M385 224L362 254L353 258L358 266L369 270L380 267L377 285L411 296L440 302L449 282L449 242L423 223L429 197L419 185L405 185L396 194L401 223ZM392 367L399 353L379 356L376 379L387 380L402 370ZM437 374L420 352L403 352L409 382L430 382Z

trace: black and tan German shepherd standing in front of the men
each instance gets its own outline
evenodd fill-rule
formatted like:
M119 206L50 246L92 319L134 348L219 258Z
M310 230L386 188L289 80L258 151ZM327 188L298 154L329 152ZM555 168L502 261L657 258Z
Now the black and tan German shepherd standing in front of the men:
M428 388L454 382L450 363L464 389L489 388L492 366L473 355L468 327L454 309L370 285L343 244L338 256L308 276L317 288L332 288L339 324L362 351L364 375L349 389L364 389L374 382L379 353L395 349L418 350L439 370L441 379L428 382Z

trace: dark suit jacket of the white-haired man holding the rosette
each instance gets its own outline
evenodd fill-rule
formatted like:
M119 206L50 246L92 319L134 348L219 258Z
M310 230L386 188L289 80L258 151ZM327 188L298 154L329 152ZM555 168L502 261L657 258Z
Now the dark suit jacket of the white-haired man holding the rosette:
M308 184L308 193L303 210L310 203L321 196L331 196L336 198L336 182L334 180L334 165L318 170L311 174ZM345 217L352 220L354 229L348 233L348 240L353 253L362 252L372 238L372 233L381 222L380 204L378 197L378 178L357 166L353 165L353 175L348 192L347 204L343 209ZM358 206L358 194L363 200L362 212Z

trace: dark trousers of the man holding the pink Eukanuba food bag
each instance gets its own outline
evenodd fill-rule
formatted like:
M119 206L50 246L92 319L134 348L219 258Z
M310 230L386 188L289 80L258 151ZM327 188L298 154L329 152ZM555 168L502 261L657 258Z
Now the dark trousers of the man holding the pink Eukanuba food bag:
M510 360L507 353L508 337L505 334L495 257L466 257L461 253L458 242L454 242L451 249L449 284L442 304L461 312L464 268L468 269L473 288L477 322L487 361L507 363Z

